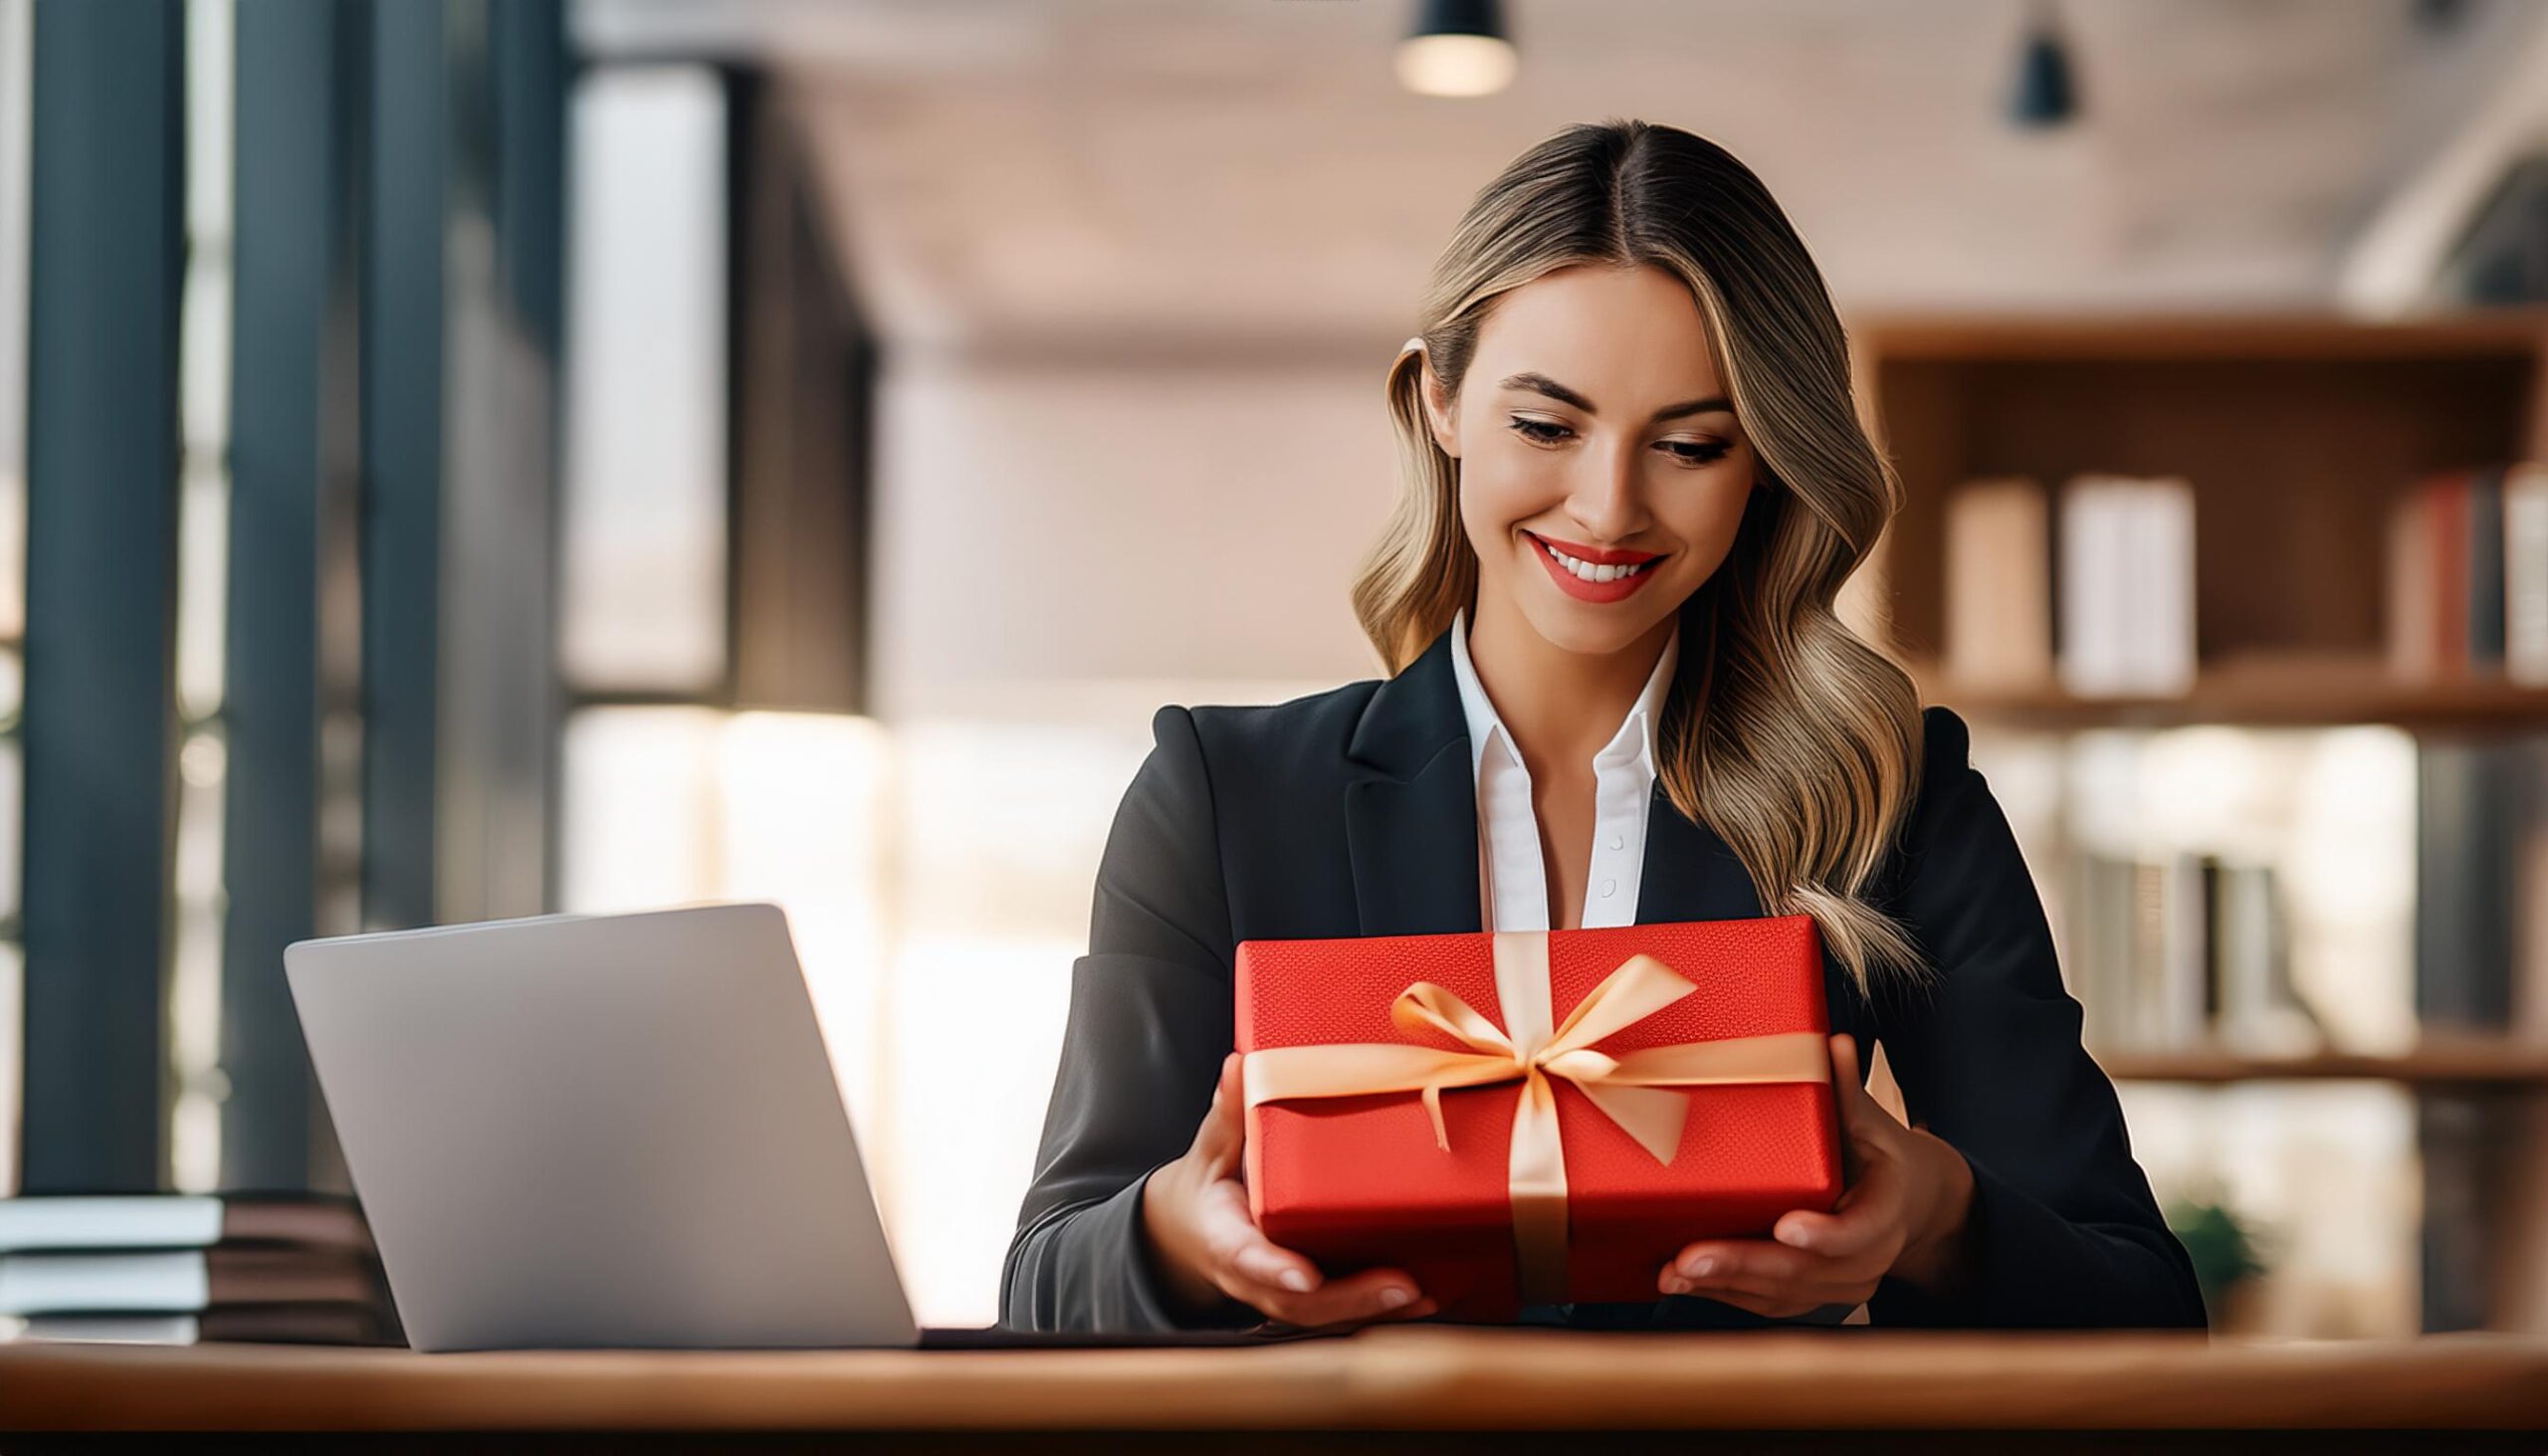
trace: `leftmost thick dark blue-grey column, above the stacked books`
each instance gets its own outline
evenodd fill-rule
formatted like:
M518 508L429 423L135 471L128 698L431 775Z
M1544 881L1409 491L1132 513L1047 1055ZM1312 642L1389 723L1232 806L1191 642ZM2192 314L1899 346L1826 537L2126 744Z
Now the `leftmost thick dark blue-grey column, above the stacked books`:
M28 1191L166 1176L183 15L36 8L25 581Z

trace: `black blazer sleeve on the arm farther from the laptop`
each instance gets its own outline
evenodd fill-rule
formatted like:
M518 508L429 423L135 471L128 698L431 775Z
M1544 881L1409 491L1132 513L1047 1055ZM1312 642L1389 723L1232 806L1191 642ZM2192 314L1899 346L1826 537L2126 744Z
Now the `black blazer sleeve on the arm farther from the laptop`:
M1878 1038L1911 1119L1972 1165L1975 1262L1952 1295L1886 1275L1868 1321L2207 1329L2194 1262L2079 1040L2079 1002L1965 719L1944 706L1924 719L1896 913L1939 977L1880 997Z

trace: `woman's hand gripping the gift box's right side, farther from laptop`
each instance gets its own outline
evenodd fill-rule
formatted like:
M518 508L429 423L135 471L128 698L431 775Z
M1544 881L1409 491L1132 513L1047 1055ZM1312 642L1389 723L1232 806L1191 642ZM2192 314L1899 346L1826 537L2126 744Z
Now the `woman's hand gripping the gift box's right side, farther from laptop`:
M1903 1127L1857 1076L1857 1043L1829 1038L1847 1191L1829 1214L1791 1209L1776 1239L1700 1239L1656 1278L1771 1318L1863 1303L1883 1275L1947 1293L1967 1267L1972 1165L1926 1125Z

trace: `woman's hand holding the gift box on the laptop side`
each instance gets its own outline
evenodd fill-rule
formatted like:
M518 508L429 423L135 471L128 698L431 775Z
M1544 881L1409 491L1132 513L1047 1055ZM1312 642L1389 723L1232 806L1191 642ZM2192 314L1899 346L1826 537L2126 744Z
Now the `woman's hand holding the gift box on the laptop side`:
M1330 1280L1307 1257L1266 1242L1249 1216L1249 1188L1238 1181L1246 1147L1246 1107L1238 1091L1238 1053L1220 1063L1213 1107L1195 1130L1195 1145L1149 1173L1142 1191L1142 1232L1152 1260L1185 1313L1210 1311L1220 1295L1292 1326L1350 1326L1381 1318L1422 1318L1435 1300L1419 1298L1401 1270L1361 1270Z

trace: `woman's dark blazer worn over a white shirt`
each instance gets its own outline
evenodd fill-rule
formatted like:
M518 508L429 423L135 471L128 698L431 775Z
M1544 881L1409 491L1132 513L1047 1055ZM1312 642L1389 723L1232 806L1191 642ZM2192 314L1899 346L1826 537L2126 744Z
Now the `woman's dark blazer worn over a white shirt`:
M1236 943L1485 926L1447 630L1394 678L1274 706L1164 706L1152 734L1070 966L1052 1107L1001 1270L1012 1329L1259 1323L1238 1300L1180 1321L1142 1239L1142 1183L1192 1142L1233 1045ZM1965 719L1924 709L1924 737L1919 803L1873 898L1942 984L1880 987L1870 1005L1824 954L1824 992L1832 1030L1880 1040L1911 1117L1972 1163L1980 1262L1952 1300L1886 1278L1868 1321L2201 1329L2194 1265L2079 1045L2079 1002L2008 819L1967 762ZM1733 849L1654 793L1636 921L1761 915ZM1575 1326L1781 1323L1700 1295L1557 1308Z

